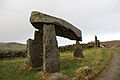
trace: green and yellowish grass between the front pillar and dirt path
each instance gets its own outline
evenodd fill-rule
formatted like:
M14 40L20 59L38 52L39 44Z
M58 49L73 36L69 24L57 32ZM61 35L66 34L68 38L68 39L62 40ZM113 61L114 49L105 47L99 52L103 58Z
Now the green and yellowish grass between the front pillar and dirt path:
M75 71L82 66L95 68L93 73L100 72L111 58L111 50L107 48L86 49L83 52L85 58L80 60L73 59L73 52L64 52L61 55L61 73L69 77L74 77ZM99 65L96 64L99 62Z

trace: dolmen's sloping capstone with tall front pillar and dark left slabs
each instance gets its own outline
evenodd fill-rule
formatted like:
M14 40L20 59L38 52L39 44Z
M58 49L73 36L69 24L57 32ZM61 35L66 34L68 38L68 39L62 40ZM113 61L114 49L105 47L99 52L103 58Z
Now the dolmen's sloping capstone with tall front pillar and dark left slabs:
M28 64L43 67L44 72L60 71L60 54L56 36L82 41L79 29L69 22L41 12L33 11L30 23L36 29L34 40L27 40Z

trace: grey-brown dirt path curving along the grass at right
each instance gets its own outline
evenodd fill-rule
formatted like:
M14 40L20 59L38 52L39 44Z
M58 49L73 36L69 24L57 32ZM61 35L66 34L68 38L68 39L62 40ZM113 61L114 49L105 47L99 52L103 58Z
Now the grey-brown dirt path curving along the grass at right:
M120 53L113 51L111 64L95 80L120 80Z

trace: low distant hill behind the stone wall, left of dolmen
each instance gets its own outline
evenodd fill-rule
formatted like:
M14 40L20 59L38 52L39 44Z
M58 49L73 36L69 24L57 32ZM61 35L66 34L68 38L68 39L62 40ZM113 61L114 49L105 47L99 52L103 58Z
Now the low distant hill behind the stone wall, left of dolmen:
M25 50L26 45L16 42L3 43L0 42L0 50Z

